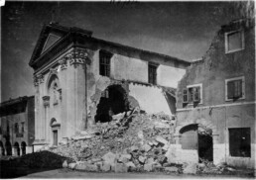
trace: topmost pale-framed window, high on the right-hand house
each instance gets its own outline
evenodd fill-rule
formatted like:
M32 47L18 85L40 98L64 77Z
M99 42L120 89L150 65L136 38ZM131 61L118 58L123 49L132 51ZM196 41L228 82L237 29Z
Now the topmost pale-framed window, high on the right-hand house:
M225 52L234 52L244 49L244 32L242 30L225 34Z

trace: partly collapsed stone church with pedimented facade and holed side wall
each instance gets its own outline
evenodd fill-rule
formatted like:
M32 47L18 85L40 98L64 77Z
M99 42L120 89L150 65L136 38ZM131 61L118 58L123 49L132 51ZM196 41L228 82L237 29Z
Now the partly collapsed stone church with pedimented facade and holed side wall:
M178 81L190 62L52 23L43 28L29 64L37 150L135 107L174 115Z

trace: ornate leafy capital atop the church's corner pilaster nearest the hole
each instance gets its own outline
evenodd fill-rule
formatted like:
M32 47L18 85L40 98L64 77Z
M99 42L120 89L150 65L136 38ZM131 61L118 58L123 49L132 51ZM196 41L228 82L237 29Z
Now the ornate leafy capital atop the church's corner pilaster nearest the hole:
M88 58L88 53L84 49L72 49L65 55L65 59L69 61L69 64L84 64Z

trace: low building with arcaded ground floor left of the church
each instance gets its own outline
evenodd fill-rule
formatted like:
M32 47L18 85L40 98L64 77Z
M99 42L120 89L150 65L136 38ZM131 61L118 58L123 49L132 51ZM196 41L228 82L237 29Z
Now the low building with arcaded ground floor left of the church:
M0 156L33 152L35 98L20 97L0 104Z

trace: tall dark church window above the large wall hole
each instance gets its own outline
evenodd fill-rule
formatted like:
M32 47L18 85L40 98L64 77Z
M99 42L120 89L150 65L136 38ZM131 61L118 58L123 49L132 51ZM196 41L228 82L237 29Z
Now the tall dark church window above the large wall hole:
M99 51L99 74L110 77L110 58L112 54L106 51Z

